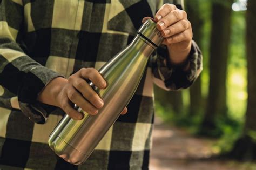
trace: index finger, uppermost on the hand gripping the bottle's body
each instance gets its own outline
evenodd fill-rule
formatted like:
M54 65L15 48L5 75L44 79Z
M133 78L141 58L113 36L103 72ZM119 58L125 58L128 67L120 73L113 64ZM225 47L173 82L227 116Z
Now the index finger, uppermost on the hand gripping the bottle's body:
M80 69L80 76L82 78L87 78L90 81L92 81L93 84L95 84L97 87L100 89L105 89L106 88L106 81L102 77L102 75L98 72L98 70L94 68L84 68Z

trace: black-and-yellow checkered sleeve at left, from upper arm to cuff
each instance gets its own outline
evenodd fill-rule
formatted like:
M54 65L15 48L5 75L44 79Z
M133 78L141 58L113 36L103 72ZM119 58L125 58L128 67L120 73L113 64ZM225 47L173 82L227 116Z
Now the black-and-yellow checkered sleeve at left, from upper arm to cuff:
M18 96L21 111L32 121L44 123L48 114L37 95L60 75L27 56L22 42L22 0L0 1L0 84Z

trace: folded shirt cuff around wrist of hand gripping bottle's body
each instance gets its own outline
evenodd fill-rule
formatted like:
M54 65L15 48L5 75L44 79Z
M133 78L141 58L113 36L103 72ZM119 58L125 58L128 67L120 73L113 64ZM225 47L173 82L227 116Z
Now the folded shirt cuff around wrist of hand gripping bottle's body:
M44 66L37 66L24 73L23 77L18 89L19 107L31 121L44 124L56 107L39 103L37 96L52 79L63 76Z

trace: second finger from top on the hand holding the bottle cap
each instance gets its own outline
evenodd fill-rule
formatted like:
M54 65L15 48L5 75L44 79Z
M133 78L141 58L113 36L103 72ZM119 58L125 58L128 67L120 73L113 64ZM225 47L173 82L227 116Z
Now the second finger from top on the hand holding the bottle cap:
M171 26L172 24L177 23L181 19L186 19L185 11L179 9L171 11L165 17L163 17L157 22L157 28L158 30L162 31L165 28Z

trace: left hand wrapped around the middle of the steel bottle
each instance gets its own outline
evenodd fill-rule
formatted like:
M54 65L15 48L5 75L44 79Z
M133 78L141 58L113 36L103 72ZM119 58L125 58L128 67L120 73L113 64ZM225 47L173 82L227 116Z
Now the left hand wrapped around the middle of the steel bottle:
M38 100L62 108L75 120L82 119L83 114L75 110L73 104L77 104L88 114L95 115L103 107L104 102L87 83L88 80L99 89L105 89L107 86L106 81L96 69L83 68L68 79L57 77L50 81L38 95ZM127 108L124 108L121 114L126 112Z

